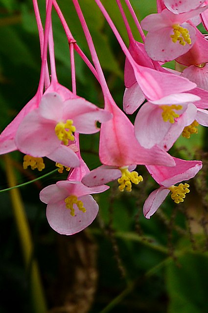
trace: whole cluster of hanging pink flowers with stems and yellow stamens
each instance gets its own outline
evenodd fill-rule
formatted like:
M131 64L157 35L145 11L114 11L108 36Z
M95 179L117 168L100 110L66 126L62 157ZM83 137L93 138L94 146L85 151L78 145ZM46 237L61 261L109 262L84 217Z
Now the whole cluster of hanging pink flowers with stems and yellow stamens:
M183 160L168 151L180 135L197 134L197 126L208 126L208 41L197 27L208 31L208 3L203 0L157 0L158 12L137 20L125 0L143 43L131 32L120 0L116 0L129 36L124 44L100 0L94 0L112 28L126 62L123 111L116 105L100 66L88 26L78 0L73 0L92 55L93 65L77 45L55 0L47 0L44 34L40 31L42 67L36 95L0 134L0 154L19 150L25 154L23 168L42 171L43 157L56 162L59 173L69 171L67 180L47 186L40 199L47 204L50 226L61 234L81 231L95 219L98 205L91 194L104 192L106 183L117 179L118 189L131 192L143 178L135 171L144 165L160 185L144 203L150 218L171 192L175 203L189 192L188 179L202 168L200 160ZM40 25L37 2L33 1ZM66 32L71 60L72 91L56 76L51 9L54 6ZM146 37L143 30L147 31ZM74 49L92 70L104 98L100 109L76 94ZM50 75L47 67L49 51ZM165 67L175 61L176 68ZM139 110L138 110L139 109ZM134 125L126 114L138 110ZM126 113L126 114L125 114ZM101 127L97 127L97 122ZM102 165L90 171L82 159L79 134L100 131L99 158Z

